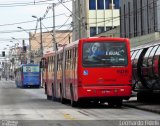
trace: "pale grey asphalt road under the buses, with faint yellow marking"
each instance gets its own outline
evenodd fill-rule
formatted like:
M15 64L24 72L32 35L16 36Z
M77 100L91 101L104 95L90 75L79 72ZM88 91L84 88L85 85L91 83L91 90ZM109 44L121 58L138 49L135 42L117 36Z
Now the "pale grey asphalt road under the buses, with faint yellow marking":
M159 114L124 106L72 108L46 100L43 88L20 89L14 81L0 81L0 126L159 126L159 120Z

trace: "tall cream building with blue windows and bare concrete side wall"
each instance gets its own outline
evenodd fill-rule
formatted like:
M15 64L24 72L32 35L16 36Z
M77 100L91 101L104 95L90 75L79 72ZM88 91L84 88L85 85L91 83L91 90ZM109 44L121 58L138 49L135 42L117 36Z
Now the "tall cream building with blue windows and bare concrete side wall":
M72 0L73 41L120 25L119 0Z

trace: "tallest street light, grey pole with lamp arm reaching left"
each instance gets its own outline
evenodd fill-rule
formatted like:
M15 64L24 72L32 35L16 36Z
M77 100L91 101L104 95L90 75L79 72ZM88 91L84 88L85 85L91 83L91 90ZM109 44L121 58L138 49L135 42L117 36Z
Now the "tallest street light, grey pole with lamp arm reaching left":
M42 43L42 18L38 18L35 15L32 15L33 18L36 18L37 21L40 22L40 49L41 49L41 57L43 57L43 43Z

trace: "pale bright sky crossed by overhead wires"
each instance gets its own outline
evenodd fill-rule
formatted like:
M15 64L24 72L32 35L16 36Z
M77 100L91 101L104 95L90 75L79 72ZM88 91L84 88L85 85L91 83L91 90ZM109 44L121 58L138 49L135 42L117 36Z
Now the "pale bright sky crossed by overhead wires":
M29 32L34 33L34 29L36 29L37 19L33 18L33 15L37 18L44 17L42 20L43 32L51 31L51 27L53 27L51 8L53 3L56 3L56 29L59 29L66 22L66 27L63 26L61 29L69 30L72 21L72 0L63 0L65 7L61 3L58 4L58 1L60 0L0 0L0 53L2 51L7 52L9 48L15 45L22 46L23 39L28 44ZM39 33L39 25L37 33ZM17 27L21 27L25 31Z

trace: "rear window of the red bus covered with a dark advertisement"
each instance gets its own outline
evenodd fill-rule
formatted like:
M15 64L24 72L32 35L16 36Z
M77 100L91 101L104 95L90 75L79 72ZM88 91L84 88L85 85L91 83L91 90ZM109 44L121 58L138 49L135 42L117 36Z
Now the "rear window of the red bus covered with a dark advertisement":
M125 42L90 42L83 44L83 66L126 66Z

